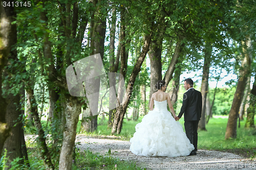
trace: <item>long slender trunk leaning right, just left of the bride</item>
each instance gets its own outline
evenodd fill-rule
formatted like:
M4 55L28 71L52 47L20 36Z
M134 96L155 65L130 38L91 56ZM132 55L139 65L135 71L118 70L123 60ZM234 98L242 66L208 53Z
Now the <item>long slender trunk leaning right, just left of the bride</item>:
M146 54L149 50L149 47L150 47L150 44L151 44L151 36L152 36L152 33L149 34L149 35L145 35L145 42L144 42L144 45L143 45L143 48L142 48L142 52L140 53L140 56L134 66L134 69L131 73L131 76L130 76L130 79L129 79L129 84L126 88L126 92L125 92L125 98L122 102L122 104L120 103L120 106L117 107L117 112L116 112L116 115L115 115L115 120L114 120L114 124L113 124L113 128L112 128L112 134L120 134L121 132L121 128L122 128L122 122L123 122L123 117L124 117L124 114L126 112L126 109L128 107L128 104L130 102L130 98L131 98L131 94L133 92L133 85L134 85L134 82L135 82L135 79L137 77L137 75L139 74L139 71L140 71L140 67L146 57ZM118 98L120 98L120 88L118 89ZM120 101L120 99L119 99Z

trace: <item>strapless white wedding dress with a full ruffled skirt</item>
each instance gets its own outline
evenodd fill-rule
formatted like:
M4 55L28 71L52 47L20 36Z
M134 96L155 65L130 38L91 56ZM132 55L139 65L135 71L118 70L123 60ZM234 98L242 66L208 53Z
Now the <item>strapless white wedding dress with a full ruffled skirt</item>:
M194 145L190 143L179 122L167 110L167 100L155 101L155 108L149 111L137 124L131 138L130 151L147 157L187 156Z

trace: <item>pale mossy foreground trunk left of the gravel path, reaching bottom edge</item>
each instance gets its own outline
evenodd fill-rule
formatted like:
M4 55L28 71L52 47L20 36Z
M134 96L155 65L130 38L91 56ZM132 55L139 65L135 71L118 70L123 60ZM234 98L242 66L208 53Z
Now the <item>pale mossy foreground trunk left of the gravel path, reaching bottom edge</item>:
M66 96L66 126L63 132L63 142L60 151L59 169L72 169L73 150L75 147L76 127L79 114L81 113L81 102L77 101L73 96Z

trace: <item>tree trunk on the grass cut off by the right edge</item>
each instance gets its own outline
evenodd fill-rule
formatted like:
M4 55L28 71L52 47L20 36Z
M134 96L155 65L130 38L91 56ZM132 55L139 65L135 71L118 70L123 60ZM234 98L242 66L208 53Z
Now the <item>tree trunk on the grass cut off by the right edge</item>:
M254 83L251 89L250 94L250 105L247 109L247 117L246 117L246 123L245 128L255 128L254 126L254 115L255 115L255 104L256 104L256 75L254 77Z

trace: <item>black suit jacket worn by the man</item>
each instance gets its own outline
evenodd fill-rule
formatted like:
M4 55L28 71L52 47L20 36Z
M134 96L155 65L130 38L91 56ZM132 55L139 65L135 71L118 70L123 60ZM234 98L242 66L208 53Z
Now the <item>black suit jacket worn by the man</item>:
M202 93L194 88L190 88L183 94L182 107L178 115L179 118L184 113L185 121L200 120L202 113Z

